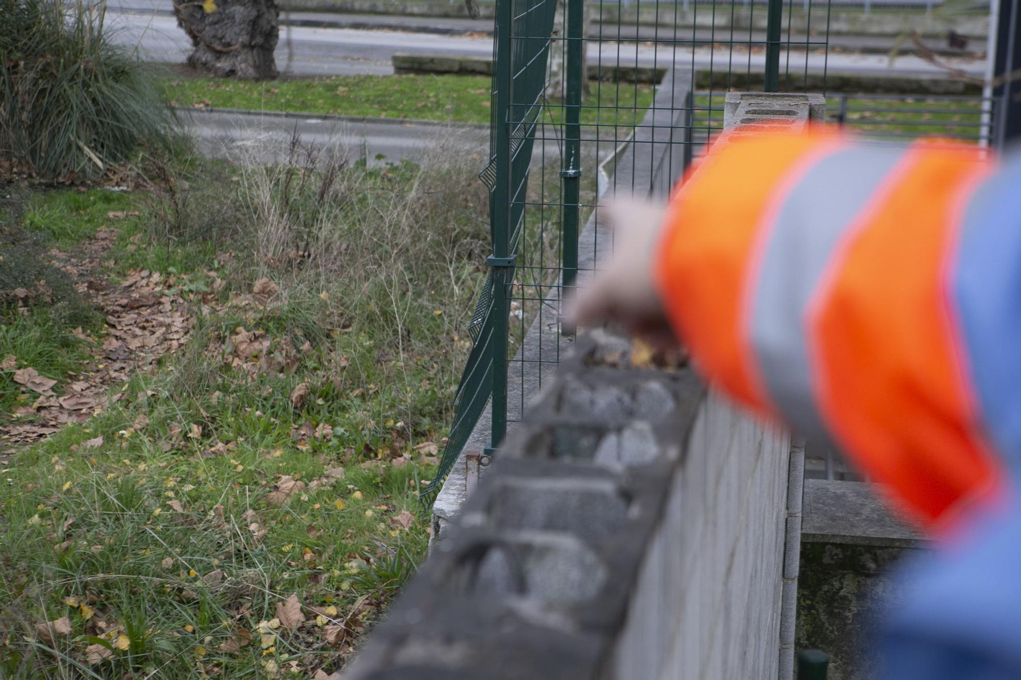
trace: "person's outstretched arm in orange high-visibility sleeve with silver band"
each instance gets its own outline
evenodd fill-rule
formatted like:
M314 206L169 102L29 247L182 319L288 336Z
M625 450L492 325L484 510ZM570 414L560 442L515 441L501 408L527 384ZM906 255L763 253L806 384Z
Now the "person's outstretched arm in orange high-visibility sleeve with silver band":
M1000 327L1021 327L1001 308L1021 307L1021 230L995 218L1021 201L1008 175L974 147L828 131L725 139L637 239L650 245L583 293L581 320L637 309L654 328L659 310L712 384L835 444L938 531L1000 493L993 448L1021 441L1006 422L1021 419L989 403L1010 376L1021 412L1021 352L996 349ZM618 212L630 229L636 211ZM991 268L990 241L1003 245Z

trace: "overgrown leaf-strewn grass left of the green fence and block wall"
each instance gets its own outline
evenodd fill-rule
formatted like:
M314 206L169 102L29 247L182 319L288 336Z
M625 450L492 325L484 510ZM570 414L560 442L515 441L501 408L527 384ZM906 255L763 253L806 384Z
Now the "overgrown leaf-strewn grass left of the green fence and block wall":
M5 216L0 284L49 266L53 285L45 300L0 286L0 437L140 366L0 463L0 677L329 675L424 555L418 495L486 238L429 192L474 173L146 174L142 190L35 193ZM484 196L442 197L481 212ZM187 333L136 337L134 317ZM140 361L150 345L162 353Z

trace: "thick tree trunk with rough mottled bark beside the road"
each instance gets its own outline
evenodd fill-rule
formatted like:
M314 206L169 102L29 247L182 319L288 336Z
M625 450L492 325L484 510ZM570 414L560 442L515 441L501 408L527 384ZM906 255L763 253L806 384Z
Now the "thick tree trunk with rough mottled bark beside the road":
M277 77L274 0L176 0L174 13L194 47L188 65L221 78Z

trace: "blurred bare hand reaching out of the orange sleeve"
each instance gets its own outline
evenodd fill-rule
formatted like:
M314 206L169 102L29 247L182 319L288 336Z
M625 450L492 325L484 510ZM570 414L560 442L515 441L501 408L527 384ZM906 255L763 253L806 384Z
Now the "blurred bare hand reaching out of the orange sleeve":
M666 208L629 199L603 209L615 231L614 253L590 285L579 288L569 317L580 326L616 324L657 346L677 344L652 279Z

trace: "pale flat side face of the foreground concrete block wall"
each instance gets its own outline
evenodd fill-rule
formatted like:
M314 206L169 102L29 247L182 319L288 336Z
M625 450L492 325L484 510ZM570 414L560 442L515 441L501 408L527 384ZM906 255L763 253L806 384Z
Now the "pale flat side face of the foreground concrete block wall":
M777 677L789 451L785 433L702 400L613 677Z

